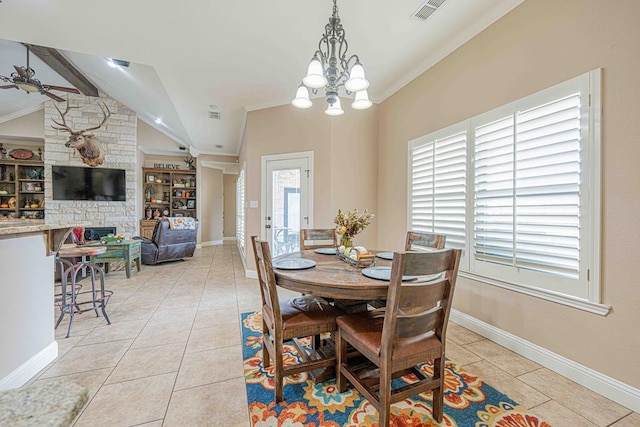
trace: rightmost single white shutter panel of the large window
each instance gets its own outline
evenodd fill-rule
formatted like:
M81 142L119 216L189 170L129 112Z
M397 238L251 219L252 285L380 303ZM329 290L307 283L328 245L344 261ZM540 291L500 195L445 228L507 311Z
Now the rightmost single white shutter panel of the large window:
M517 115L516 266L578 276L580 96Z

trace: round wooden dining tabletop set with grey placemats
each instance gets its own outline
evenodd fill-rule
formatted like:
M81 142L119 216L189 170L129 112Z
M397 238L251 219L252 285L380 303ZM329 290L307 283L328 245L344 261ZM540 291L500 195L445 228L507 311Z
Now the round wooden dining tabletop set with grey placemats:
M371 251L378 253L381 251ZM278 261L309 259L315 267L303 270L278 269ZM371 279L362 274L362 268L340 260L336 255L316 253L315 250L293 252L273 259L276 284L304 294L342 300L386 299L389 282ZM391 261L376 258L376 267L391 267Z

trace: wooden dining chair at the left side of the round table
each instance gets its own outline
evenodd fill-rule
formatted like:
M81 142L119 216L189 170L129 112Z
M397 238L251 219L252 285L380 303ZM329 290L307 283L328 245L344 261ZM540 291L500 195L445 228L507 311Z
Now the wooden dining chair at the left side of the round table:
M251 237L255 254L260 295L262 296L262 358L264 367L275 364L275 401L283 400L284 377L335 365L335 356L314 358L310 349L298 338L312 337L319 341L320 334L336 330L335 309L322 298L305 295L286 301L278 299L276 278L271 263L269 242ZM284 365L283 346L292 341L302 361L295 365Z

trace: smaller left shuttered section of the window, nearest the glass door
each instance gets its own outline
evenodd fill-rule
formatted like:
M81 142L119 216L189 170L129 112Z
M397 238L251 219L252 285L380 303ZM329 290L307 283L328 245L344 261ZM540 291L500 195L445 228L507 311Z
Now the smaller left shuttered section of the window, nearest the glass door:
M446 234L448 247L464 249L467 131L441 135L412 142L409 229Z

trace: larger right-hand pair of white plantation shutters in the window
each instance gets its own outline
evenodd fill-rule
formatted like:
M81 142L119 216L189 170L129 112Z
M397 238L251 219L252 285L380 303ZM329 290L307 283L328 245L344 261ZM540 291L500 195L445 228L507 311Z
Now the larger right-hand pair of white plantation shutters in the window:
M577 278L580 93L475 133L476 259Z

